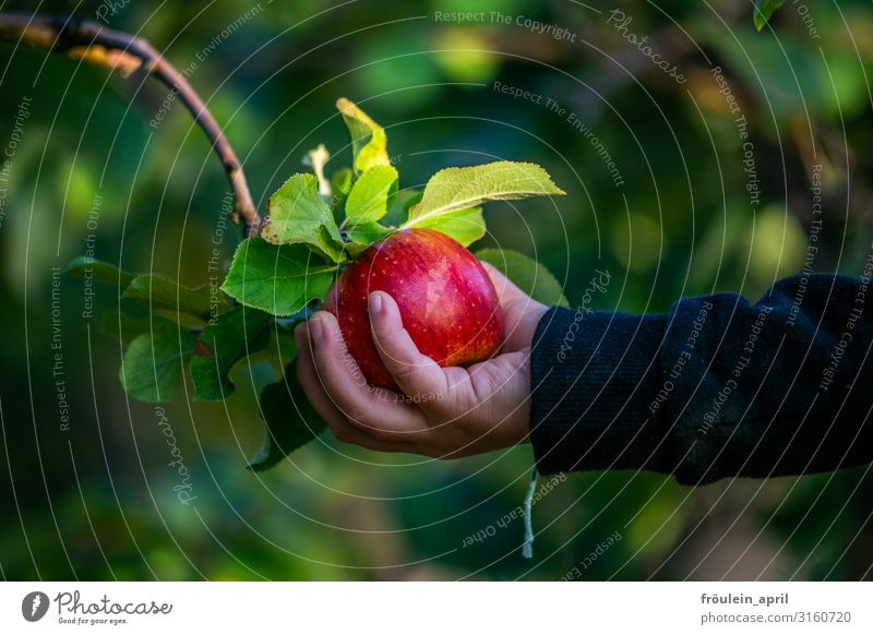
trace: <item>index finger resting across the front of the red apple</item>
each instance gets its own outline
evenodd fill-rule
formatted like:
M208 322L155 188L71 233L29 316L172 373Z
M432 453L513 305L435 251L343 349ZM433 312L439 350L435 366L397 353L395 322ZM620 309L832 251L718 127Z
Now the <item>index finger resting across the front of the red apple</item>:
M449 392L446 375L440 364L418 350L409 332L403 327L397 302L382 291L370 293L369 301L373 342L391 376L404 393L423 407L430 402L441 402Z

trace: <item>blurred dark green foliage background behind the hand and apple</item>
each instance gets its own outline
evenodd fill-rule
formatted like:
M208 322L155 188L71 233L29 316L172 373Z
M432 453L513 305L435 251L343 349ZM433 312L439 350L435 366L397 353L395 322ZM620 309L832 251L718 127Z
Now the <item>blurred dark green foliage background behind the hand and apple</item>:
M870 249L866 0L788 2L762 33L752 3L734 0L0 2L37 7L101 15L186 69L262 211L318 143L332 165L348 161L338 96L385 125L402 187L493 157L545 166L569 195L487 206L482 245L537 257L573 304L598 268L612 284L595 309L657 312L719 290L755 298L804 266L814 166L824 229L813 268L857 274ZM632 17L625 31L613 10ZM436 16L455 11L488 19ZM525 19L569 35L537 33ZM685 81L627 34L647 36ZM748 121L757 205L714 67ZM541 104L494 91L495 81ZM521 519L498 524L522 503L529 447L441 463L325 436L253 475L244 464L263 435L256 391L275 380L266 363L238 369L240 390L225 404L191 403L188 382L166 407L196 496L180 504L160 416L122 392L119 344L98 319L82 319L83 287L71 278L58 283L55 307L71 418L61 430L52 267L94 233L103 260L192 286L207 279L227 185L178 101L150 125L166 97L141 74L0 45L0 145L14 145L0 181L3 578L560 579L574 567L583 579L870 578L866 466L698 490L643 472L570 475L534 507L531 561L521 558ZM566 113L550 111L549 98ZM225 257L238 240L222 235ZM98 289L97 310L117 302Z

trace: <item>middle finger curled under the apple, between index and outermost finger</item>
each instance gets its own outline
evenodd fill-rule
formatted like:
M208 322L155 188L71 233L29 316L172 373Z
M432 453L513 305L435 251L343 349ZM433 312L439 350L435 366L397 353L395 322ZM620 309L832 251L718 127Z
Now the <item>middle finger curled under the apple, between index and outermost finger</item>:
M333 314L316 312L309 321L309 334L316 376L349 423L379 439L398 441L409 441L411 434L428 430L419 409L391 391L367 384Z

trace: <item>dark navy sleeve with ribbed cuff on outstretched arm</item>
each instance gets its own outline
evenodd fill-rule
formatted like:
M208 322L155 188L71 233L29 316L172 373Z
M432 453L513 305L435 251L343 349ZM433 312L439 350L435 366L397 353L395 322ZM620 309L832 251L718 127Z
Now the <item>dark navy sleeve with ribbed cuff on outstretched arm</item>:
M698 486L873 460L869 273L793 276L754 304L683 299L666 315L550 309L530 369L539 471Z

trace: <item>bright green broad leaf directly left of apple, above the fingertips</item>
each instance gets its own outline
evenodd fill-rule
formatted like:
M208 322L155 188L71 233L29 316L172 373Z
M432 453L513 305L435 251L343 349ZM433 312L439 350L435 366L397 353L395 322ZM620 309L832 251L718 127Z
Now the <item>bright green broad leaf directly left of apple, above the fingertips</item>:
M222 289L240 304L271 315L291 315L324 298L336 271L336 265L318 261L303 245L248 238L234 252Z

